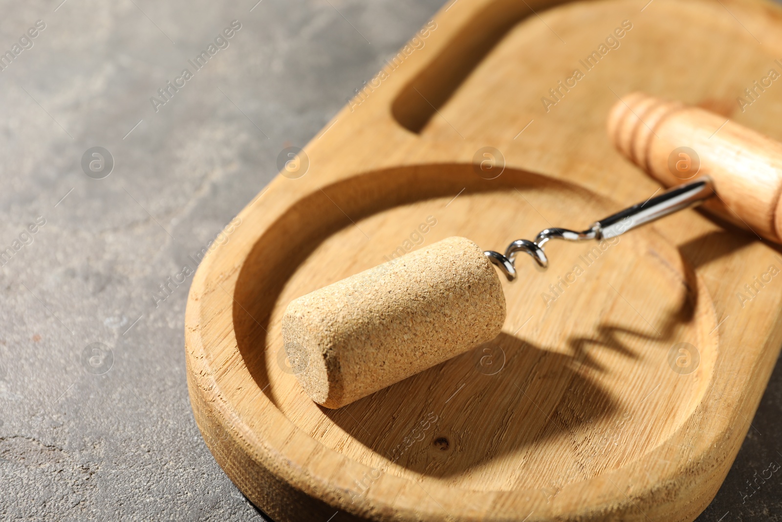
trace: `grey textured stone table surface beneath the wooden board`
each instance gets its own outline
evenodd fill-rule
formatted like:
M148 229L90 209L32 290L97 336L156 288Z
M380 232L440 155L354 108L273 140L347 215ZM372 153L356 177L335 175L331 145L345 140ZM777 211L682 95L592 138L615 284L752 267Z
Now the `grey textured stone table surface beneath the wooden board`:
M160 285L195 268L278 153L315 135L442 0L256 1L0 2L0 52L14 55L0 70L2 520L268 520L192 417L192 277ZM153 107L167 81L181 87ZM110 157L88 155L91 178L94 146ZM782 462L780 428L778 365L698 520L782 520L778 475L748 496L755 471Z

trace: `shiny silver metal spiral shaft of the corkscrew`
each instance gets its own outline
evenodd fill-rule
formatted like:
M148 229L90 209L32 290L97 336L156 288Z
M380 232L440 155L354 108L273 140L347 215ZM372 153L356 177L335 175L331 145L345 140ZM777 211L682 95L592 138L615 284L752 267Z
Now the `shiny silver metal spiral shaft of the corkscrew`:
M513 281L516 279L516 254L519 252L526 252L541 268L547 268L548 258L543 252L543 246L549 239L566 239L568 241L611 239L650 221L664 218L668 214L694 207L713 195L712 179L703 176L694 182L674 187L659 196L653 196L644 203L637 203L608 216L608 218L595 221L589 229L583 232L568 229L545 229L536 236L534 241L516 239L508 245L504 255L494 250L486 250L483 254L486 254L489 261L500 268L508 281Z

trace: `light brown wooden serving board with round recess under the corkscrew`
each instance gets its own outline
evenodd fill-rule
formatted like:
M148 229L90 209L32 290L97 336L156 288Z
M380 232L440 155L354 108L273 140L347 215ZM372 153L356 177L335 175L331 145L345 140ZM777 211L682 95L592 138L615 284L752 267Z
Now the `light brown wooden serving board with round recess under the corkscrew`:
M496 340L343 409L310 401L285 362L289 301L400 248L458 235L503 250L652 196L604 131L618 95L782 139L782 84L744 112L736 101L782 70L777 6L557 3L444 7L199 267L195 419L274 520L694 520L716 494L780 351L782 258L697 211L611 243L551 243L547 272L519 258ZM496 178L475 169L484 147L504 158Z

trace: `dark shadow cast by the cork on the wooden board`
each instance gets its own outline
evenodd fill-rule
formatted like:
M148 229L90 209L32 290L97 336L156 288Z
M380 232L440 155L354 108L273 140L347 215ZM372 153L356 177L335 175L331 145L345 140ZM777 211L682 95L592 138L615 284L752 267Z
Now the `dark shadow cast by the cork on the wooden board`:
M486 357L504 361L497 373L482 363ZM500 333L342 409L321 411L391 463L455 477L615 414L617 401L581 366L574 355Z

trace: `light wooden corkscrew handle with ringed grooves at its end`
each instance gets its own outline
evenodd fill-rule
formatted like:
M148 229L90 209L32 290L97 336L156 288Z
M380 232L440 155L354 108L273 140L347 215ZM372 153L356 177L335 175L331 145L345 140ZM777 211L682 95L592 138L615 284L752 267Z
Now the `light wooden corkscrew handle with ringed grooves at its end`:
M782 243L782 143L726 117L641 92L608 115L617 149L666 187L701 175L717 196L705 207Z

